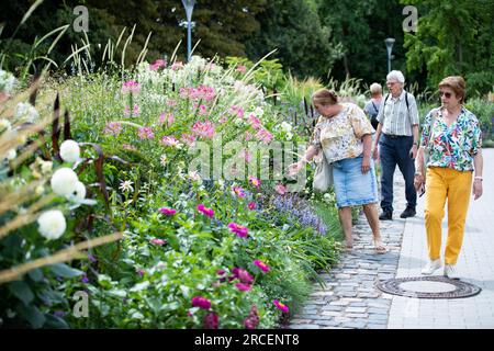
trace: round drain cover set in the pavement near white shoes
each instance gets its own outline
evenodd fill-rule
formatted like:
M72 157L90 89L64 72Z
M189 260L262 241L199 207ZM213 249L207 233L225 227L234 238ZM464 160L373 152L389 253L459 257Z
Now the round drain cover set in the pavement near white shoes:
M441 275L390 279L377 283L388 294L416 298L461 298L479 294L482 288Z

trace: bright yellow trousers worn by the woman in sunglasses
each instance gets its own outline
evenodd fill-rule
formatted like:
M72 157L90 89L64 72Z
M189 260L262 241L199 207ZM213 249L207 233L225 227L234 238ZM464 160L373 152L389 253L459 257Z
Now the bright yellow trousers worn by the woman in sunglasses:
M441 222L448 197L448 240L445 263L456 264L463 242L464 222L472 189L472 172L450 168L427 169L425 223L429 258L437 260L441 250Z

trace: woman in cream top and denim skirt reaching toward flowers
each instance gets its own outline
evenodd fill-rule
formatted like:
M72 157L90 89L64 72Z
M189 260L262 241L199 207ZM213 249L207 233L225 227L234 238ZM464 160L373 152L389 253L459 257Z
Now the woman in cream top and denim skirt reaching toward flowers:
M363 205L367 220L374 236L375 251L386 252L382 244L378 208L378 184L371 159L374 128L363 111L353 103L338 103L333 91L321 89L313 94L314 107L321 117L311 145L301 161L290 166L290 174L299 172L316 154L324 151L333 163L334 188L339 219L347 249L352 248L351 206Z

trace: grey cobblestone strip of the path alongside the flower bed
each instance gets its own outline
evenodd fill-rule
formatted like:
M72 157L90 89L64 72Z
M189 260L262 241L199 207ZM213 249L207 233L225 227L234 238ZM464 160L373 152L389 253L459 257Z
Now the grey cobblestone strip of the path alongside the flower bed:
M372 231L363 214L353 226L353 250L343 253L329 273L321 273L326 287L314 284L307 302L290 320L292 329L358 328L385 329L392 295L375 287L378 280L395 278L405 219L404 182L401 173L394 178L393 220L381 222L381 236L390 249L384 254L373 250Z

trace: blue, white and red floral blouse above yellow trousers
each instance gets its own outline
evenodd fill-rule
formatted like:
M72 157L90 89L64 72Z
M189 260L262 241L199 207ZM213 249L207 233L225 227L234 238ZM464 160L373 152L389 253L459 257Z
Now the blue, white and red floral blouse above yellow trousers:
M435 121L431 126L433 115ZM441 107L434 109L424 120L420 145L429 150L426 167L473 171L473 157L482 147L479 120L462 107L457 121L448 127Z

